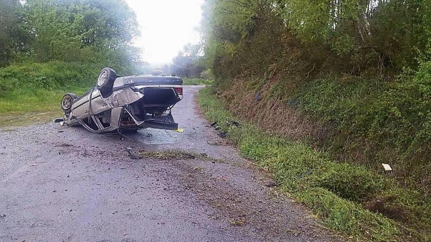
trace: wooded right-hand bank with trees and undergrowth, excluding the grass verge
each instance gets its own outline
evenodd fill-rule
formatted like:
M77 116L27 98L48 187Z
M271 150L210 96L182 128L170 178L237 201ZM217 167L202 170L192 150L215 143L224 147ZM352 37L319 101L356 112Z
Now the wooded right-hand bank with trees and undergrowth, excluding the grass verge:
M315 149L391 164L430 199L429 1L207 0L204 10L207 65L230 107L296 110L327 132L310 137ZM262 100L241 104L233 86Z

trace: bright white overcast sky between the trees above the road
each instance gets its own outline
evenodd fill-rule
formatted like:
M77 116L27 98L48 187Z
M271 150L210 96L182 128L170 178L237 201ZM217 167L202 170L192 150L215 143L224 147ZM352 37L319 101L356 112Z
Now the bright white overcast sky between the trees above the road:
M135 11L143 48L143 61L152 65L170 63L184 45L197 44L204 0L125 0Z

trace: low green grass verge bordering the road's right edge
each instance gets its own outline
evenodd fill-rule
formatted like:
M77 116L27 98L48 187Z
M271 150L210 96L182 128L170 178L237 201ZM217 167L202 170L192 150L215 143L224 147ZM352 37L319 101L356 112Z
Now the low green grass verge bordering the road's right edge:
M431 206L366 167L337 162L304 141L267 134L236 118L211 94L199 92L206 117L228 133L240 153L271 173L281 190L306 204L329 228L364 241L430 241Z

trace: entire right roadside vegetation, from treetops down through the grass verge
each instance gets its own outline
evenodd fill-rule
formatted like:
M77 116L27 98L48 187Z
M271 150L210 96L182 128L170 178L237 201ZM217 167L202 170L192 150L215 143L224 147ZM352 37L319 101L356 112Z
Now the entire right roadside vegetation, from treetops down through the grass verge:
M430 214L418 215L431 199L430 2L206 0L203 9L214 92L274 135L241 127L243 154L333 228L405 241L392 236L407 224L419 234L411 240L430 240ZM362 223L373 216L377 227Z

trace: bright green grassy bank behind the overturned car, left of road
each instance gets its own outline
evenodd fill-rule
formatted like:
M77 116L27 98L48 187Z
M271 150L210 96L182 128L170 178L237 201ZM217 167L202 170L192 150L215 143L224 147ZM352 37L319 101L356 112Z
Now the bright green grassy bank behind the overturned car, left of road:
M91 88L100 67L83 63L26 63L0 69L0 126L48 121L62 114L67 92ZM46 117L43 117L46 114Z

